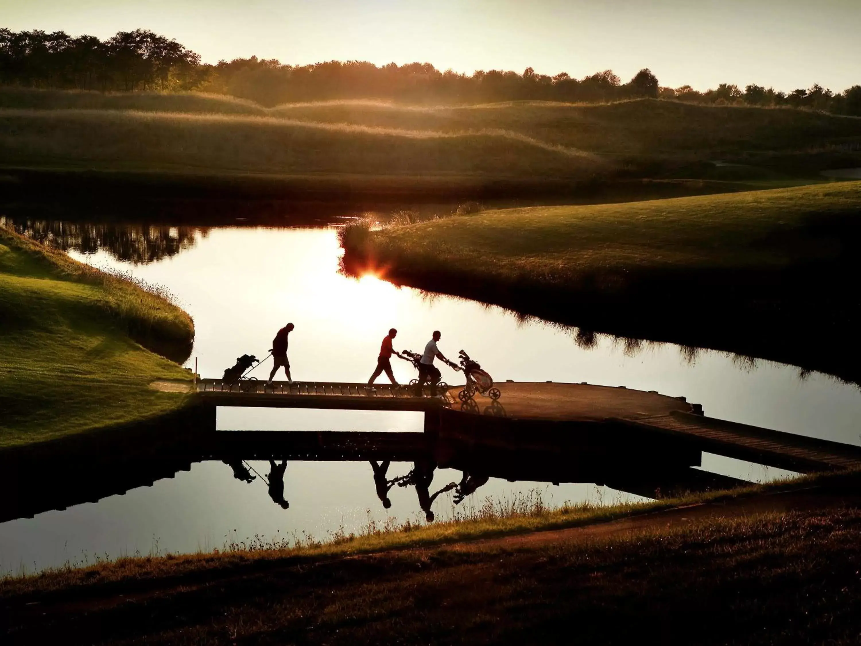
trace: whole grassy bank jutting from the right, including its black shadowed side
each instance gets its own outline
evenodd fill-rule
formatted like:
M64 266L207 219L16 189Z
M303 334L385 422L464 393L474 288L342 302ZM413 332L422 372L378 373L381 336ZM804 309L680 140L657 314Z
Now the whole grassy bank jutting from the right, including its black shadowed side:
M345 229L350 270L858 379L861 183Z

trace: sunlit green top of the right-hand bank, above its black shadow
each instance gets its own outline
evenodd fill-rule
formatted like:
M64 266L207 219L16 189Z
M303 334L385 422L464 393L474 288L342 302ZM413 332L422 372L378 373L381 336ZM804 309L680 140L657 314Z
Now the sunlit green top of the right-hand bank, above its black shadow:
M808 233L845 215L861 216L861 182L511 208L356 230L344 240L349 251L395 271L576 288L587 278L624 280L647 270L780 270L827 259L839 252L839 239Z

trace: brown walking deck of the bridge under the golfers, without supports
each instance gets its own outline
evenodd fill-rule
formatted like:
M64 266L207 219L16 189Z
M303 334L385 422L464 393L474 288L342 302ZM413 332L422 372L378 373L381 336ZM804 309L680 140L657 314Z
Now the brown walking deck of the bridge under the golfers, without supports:
M347 408L357 410L434 411L451 407L463 413L484 413L527 422L610 422L633 425L643 432L661 433L696 450L734 457L779 469L811 472L861 468L861 448L808 438L793 433L706 418L702 408L684 397L630 388L586 383L505 382L497 384L499 401L476 394L474 400L457 399L460 386L442 397L417 397L412 389L363 383L242 382L228 386L205 379L198 387L201 401L216 406ZM484 416L482 415L482 416ZM469 425L467 425L469 430ZM575 432L572 426L572 432ZM348 451L349 452L349 451Z

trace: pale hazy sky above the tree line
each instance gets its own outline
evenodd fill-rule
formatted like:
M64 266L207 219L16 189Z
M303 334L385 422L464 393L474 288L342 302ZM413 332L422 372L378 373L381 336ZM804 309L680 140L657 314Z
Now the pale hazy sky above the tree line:
M331 59L439 69L649 67L661 84L861 84L861 0L0 0L0 26L149 28L207 62Z

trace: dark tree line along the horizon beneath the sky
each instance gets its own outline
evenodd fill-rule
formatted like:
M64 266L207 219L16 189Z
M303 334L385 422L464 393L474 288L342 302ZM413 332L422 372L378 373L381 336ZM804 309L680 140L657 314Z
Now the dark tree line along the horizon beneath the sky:
M365 61L285 65L276 59L234 59L216 65L176 40L145 29L108 40L65 32L0 29L0 84L78 90L199 90L250 99L263 105L334 99L383 99L416 103L498 101L610 102L665 98L717 105L789 106L861 116L861 85L833 92L815 84L790 93L720 84L699 92L684 85L662 87L643 69L623 83L613 71L585 78L553 77L531 67L514 71L439 71L430 63L377 66Z

